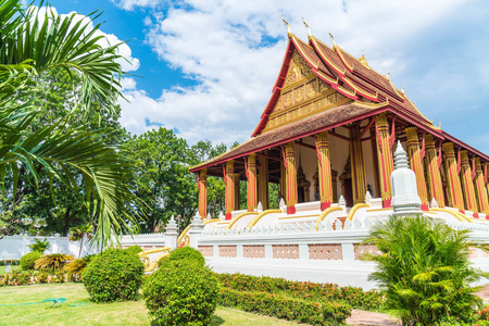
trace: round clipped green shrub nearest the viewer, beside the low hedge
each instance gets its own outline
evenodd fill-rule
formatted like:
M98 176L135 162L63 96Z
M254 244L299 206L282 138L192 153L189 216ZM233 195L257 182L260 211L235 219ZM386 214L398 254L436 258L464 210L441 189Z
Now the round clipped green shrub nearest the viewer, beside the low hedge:
M142 296L155 325L209 325L218 285L206 266L177 260L148 277Z

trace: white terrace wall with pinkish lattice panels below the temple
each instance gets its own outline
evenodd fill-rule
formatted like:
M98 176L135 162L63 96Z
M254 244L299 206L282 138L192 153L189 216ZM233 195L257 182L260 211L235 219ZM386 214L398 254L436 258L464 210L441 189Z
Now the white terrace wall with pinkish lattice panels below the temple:
M375 222L379 222L377 218ZM488 242L489 225L448 223L455 229L471 229L471 239ZM373 246L361 244L372 223L337 221L290 223L272 227L212 229L199 235L198 246L208 264L217 273L242 273L255 276L284 277L292 280L334 283L339 286L376 288L368 280L376 264L362 261L364 253L377 252ZM476 267L489 272L489 253L471 248L469 258ZM482 279L480 284L488 283Z

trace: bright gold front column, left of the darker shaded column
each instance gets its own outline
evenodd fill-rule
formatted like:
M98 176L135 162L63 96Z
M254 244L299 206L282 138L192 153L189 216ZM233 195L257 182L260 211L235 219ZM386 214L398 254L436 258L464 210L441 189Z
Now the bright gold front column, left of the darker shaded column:
M329 158L328 131L317 134L316 138L321 210L333 203L331 160Z

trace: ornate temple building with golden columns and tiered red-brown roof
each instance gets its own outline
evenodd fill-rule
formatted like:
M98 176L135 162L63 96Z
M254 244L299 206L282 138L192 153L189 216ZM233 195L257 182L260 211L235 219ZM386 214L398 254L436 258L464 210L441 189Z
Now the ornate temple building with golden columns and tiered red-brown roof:
M190 168L199 184L199 214L208 216L208 176L224 177L227 222L221 223L227 228L238 220L251 227L265 215L268 224L313 221L340 208L338 218L351 221L362 208L388 214L398 140L416 175L423 211L464 222L489 216L488 155L432 125L364 55L355 58L311 34L305 42L289 32L272 97L251 139ZM248 189L244 211L240 181ZM269 210L269 183L278 185L281 210Z

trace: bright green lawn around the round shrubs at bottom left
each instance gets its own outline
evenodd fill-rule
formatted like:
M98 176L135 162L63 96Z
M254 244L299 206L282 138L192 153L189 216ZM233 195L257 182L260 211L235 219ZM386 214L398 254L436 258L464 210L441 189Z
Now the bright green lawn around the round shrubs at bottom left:
M50 308L51 303L3 305L38 302L48 298L66 298L67 302L59 308ZM74 302L85 302L85 305L70 306L70 303ZM0 325L150 325L150 319L143 300L91 303L83 284L65 283L0 288ZM212 325L297 324L234 309L217 308Z

